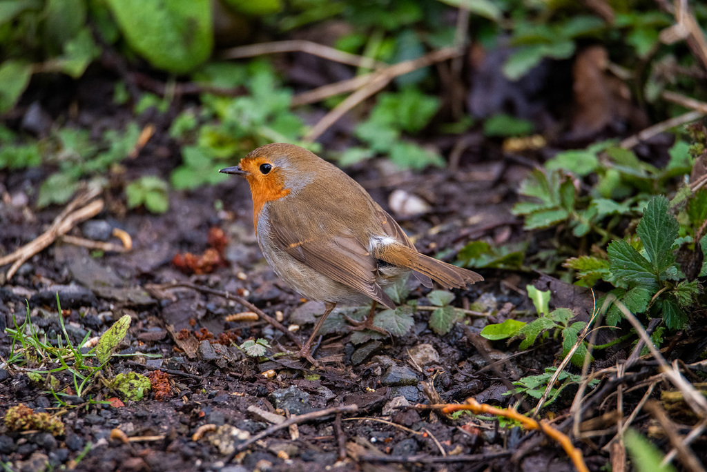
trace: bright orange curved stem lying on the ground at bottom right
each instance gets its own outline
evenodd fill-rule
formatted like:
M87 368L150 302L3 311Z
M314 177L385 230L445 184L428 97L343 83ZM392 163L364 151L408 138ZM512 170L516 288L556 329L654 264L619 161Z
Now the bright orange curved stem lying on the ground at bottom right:
M562 446L567 455L572 459L575 468L579 472L589 472L587 465L584 463L582 457L582 452L573 446L572 441L567 435L564 435L561 431L556 430L554 427L549 425L545 421L536 421L532 418L524 416L518 411L511 410L509 408L496 408L495 406L486 405L485 403L479 403L475 399L467 399L467 402L461 405L417 405L416 408L431 408L434 410L439 410L445 415L454 413L455 411L471 411L474 415L482 415L484 413L499 416L501 418L508 418L509 420L518 421L525 427L526 430L541 430L548 437L554 439L556 442Z

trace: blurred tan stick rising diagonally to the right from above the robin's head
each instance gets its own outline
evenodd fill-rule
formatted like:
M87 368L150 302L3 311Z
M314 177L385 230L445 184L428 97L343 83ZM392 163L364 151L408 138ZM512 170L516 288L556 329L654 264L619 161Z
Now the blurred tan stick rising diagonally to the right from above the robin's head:
M315 126L310 129L307 136L305 136L304 141L315 141L319 136L322 135L329 126L332 126L341 117L344 116L349 110L354 108L356 105L361 103L366 98L370 97L374 93L385 88L392 79L397 76L402 76L406 73L421 69L422 67L431 66L436 62L446 61L447 59L452 59L452 57L457 57L461 54L460 49L456 47L447 47L445 49L438 49L429 54L419 57L418 59L413 59L411 61L399 62L385 69L380 69L373 73L370 81L363 85L363 87L356 90L356 92L349 95L343 102L339 103L331 111L325 114L320 121L315 124Z

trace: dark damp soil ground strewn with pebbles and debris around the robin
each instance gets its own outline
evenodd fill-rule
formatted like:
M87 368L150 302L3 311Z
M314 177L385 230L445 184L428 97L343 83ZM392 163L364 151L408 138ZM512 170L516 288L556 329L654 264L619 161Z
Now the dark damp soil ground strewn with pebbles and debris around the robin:
M97 107L95 115L83 117L83 122L102 112ZM119 114L112 112L112 119L119 122ZM139 158L125 166L132 176L166 172L176 156L173 144L158 131ZM493 143L472 146L464 156L454 172L390 172L384 162L354 167L351 172L386 209L390 210L387 196L393 189L423 196L431 203L431 211L423 216L399 218L426 254L456 254L472 240L503 244L524 238L530 243L529 252L537 252L544 244L542 235L523 233L520 220L510 214L528 166L505 160L494 151ZM45 175L46 170L0 173L0 250L5 254L34 240L62 210L33 211L30 189ZM119 191L109 190L104 198L103 213L70 234L100 240L110 237L113 228L120 228L131 235L133 249L96 256L84 247L57 242L33 256L0 287L0 356L8 357L11 339L4 330L13 326L15 317L21 322L25 300L29 300L31 320L40 334L56 338L61 332L56 293L74 343L88 330L91 336L100 334L129 314L132 324L119 353L132 356L113 358L92 389L81 397L66 397L69 404L58 407L47 389L31 382L25 371L4 365L0 370L0 412L24 403L36 412L59 414L66 427L64 435L53 437L43 432L10 432L0 426L0 460L6 467L42 471L66 466L121 472L571 470L571 461L561 447L537 432L510 427L491 417L481 420L461 415L452 419L429 411L395 408L415 403L461 403L474 397L501 407L520 403L521 411L527 411L534 402L508 395L511 382L558 365L559 341L549 340L516 353L516 348L507 350L503 341L489 343L481 338L479 331L489 318L472 314L449 334L438 336L428 328L429 312L418 310L414 328L402 338L354 344L346 329L323 336L315 353L320 367L275 356L296 350L296 345L264 321L226 321L228 315L247 309L199 290L242 295L272 317L281 312L285 326L298 326L293 333L300 341L310 334L315 314L322 312L322 306L301 300L279 281L262 259L245 182L234 177L191 193L173 192L170 211L163 216L127 211ZM211 228L223 230L227 241L223 264L200 275L182 273L173 264L174 256L202 254L209 248ZM483 307L487 314L496 313L490 318L492 322L503 321L511 309L532 308L524 288L537 273L481 273L486 281L457 291L455 306L468 308L476 303L474 307ZM192 285L164 288L163 284L175 282ZM590 295L575 291L572 285L547 276L539 283L554 290L556 305L573 307L578 316L591 307ZM425 298L427 289L412 288L411 300L430 305ZM231 344L250 338L269 341L269 358L245 357ZM597 359L597 368L614 365L626 355L621 345L607 350L604 358ZM689 360L689 356L682 357ZM578 373L573 367L568 369ZM117 395L106 387L108 377L156 370L166 372L168 388L124 405L96 402ZM638 382L657 372L650 361L639 361L626 375L631 382ZM68 374L58 377L62 388L71 384ZM616 410L617 384L612 382L608 379L602 384L601 394L588 404L583 418L602 418L603 413ZM576 386L566 389L547 416L557 424L566 422L575 393ZM632 411L641 396L643 390L624 394L624 414ZM346 405L355 405L358 411L285 428L244 452L235 449L247 437L270 427L272 414L299 415ZM643 415L636 421L646 420ZM208 432L199 430L204 425L211 425ZM616 433L616 420L609 418L595 429L604 431L576 444L590 470L606 470L609 451L601 447ZM135 440L122 440L115 430ZM704 459L699 446L693 447ZM83 455L85 450L88 452Z

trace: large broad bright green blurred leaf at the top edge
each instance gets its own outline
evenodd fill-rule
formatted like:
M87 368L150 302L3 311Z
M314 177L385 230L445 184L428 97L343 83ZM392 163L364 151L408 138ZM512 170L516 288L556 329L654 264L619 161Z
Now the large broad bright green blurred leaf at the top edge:
M130 47L153 66L189 72L211 55L209 0L106 0Z

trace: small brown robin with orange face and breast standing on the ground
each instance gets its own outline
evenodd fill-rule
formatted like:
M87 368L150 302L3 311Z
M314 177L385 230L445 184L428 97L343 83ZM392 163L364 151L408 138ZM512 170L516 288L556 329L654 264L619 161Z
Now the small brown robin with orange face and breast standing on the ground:
M376 303L395 308L383 291L408 273L431 288L463 288L478 273L420 254L405 232L368 192L338 167L299 146L273 143L220 172L245 177L253 199L253 225L268 264L291 288L326 310L300 357L337 303L373 300L360 328L374 328Z

